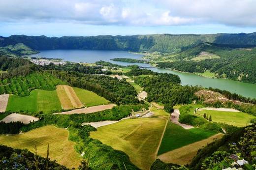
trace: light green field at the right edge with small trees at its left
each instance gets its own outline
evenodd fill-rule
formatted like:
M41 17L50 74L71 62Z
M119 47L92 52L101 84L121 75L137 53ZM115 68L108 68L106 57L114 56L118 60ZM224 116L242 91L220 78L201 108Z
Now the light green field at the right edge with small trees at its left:
M224 112L224 111L210 111L210 110L202 110L197 111L197 114L200 114L203 116L204 113L208 115L212 115L212 121L213 122L222 122L229 125L234 125L238 127L246 126L248 125L250 119L256 118L256 116L242 113L242 112Z

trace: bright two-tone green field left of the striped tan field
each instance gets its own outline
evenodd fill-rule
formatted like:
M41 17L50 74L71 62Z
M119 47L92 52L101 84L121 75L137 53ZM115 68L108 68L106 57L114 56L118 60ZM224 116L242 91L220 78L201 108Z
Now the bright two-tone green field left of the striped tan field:
M50 111L59 111L61 109L56 90L35 89L31 91L29 96L25 97L10 95L6 111L43 111L49 113Z

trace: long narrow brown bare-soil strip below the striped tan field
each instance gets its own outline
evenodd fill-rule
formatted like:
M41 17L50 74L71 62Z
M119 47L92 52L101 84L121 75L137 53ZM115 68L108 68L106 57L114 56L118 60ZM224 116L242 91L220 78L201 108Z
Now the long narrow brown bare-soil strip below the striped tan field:
M53 113L53 114L95 113L95 112L104 111L104 110L107 110L107 109L112 109L114 106L116 106L116 104L99 105L99 106L92 106L92 107L89 107L89 108L74 109L72 111Z

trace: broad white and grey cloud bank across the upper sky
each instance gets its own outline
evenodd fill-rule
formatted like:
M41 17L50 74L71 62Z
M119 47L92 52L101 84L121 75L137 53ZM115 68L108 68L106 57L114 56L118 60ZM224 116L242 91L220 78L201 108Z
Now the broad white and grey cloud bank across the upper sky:
M256 0L0 0L1 22L256 26Z

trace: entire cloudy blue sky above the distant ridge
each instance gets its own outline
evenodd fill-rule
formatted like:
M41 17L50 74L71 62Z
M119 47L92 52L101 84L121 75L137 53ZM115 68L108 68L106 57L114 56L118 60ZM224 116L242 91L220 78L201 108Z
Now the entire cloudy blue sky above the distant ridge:
M0 35L250 33L256 0L0 0Z

